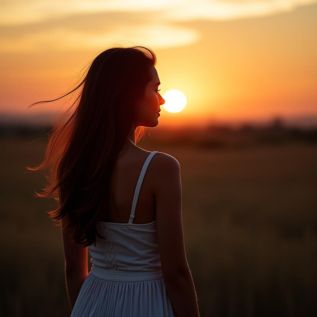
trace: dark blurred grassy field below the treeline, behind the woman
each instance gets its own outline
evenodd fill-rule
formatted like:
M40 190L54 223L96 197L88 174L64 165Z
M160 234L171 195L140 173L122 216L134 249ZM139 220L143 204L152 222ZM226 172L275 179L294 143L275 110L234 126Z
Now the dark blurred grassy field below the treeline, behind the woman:
M45 213L55 205L32 196L44 177L25 169L43 156L43 140L28 144L40 138L0 139L1 316L71 312L61 232ZM202 317L317 315L316 144L144 148L181 165L185 245Z

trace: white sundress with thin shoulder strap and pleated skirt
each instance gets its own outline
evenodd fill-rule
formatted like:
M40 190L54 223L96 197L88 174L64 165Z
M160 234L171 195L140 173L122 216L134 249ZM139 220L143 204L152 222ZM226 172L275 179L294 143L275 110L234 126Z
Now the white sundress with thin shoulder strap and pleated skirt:
M92 268L71 317L176 317L162 277L156 222L133 223L147 157L135 188L128 223L97 222L96 246L88 246Z

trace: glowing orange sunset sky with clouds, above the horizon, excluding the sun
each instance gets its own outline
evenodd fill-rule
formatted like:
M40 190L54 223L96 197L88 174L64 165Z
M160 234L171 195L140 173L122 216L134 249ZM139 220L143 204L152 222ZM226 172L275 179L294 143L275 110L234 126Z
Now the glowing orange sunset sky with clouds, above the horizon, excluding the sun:
M317 115L317 1L58 3L4 1L1 113L55 112L27 106L65 93L79 65L122 44L153 49L161 94L187 98L180 113L162 107L162 125Z

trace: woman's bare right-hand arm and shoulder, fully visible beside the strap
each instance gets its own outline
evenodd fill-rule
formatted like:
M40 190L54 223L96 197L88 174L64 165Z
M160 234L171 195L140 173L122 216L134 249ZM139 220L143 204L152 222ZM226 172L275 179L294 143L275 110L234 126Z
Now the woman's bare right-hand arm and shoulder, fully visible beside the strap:
M156 230L164 284L178 317L198 317L184 245L180 165L165 153L155 154L154 159Z

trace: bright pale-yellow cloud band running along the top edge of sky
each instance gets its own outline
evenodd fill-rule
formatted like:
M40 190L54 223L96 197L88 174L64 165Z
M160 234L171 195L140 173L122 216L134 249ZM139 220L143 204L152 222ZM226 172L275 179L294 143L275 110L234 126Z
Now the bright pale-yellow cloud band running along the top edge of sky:
M102 11L151 11L154 17L176 20L210 18L215 20L263 16L294 8L317 0L2 0L0 25L16 25L45 21L78 13Z

